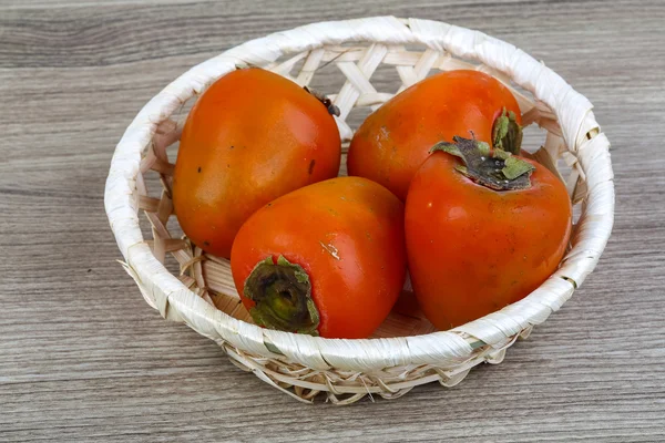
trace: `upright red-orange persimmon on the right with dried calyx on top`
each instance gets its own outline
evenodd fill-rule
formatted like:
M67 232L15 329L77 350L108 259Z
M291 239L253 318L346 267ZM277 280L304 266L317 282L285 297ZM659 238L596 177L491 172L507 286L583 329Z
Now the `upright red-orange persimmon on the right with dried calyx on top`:
M426 317L446 330L513 303L559 267L571 200L544 166L475 140L439 143L406 202L409 272Z

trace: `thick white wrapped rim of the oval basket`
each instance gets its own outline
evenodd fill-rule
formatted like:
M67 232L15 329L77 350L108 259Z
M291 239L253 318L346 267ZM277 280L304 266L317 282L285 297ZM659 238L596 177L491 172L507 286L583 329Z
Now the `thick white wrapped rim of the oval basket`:
M460 33L471 33L473 44L469 47L463 41L456 40ZM603 188L605 193L608 193L608 196L603 194L603 198L610 198L611 202L607 203L610 209L604 209L598 214L593 213L594 217L602 224L602 229L598 227L597 233L592 233L595 235L594 245L598 247L587 249L584 247L579 248L580 245L576 245L564 258L565 261L570 257L589 256L590 260L583 262L585 267L577 269L576 278L570 278L565 272L562 272L562 266L526 298L459 328L422 336L327 339L263 329L211 307L173 277L152 255L139 227L139 208L133 196L133 187L140 172L141 152L152 140L157 124L167 119L181 102L205 89L212 80L236 69L238 63L265 65L287 53L308 51L327 44L340 44L349 41L376 44L420 43L440 52L480 61L509 75L520 86L531 91L536 99L552 107L562 122L563 137L569 150L577 153L583 150L594 153L608 150L608 141L600 132L591 111L593 107L591 102L575 92L561 76L523 51L479 31L431 20L374 17L317 22L247 41L223 52L221 55L200 63L168 84L141 110L116 146L106 181L105 209L119 248L125 258L126 266L130 268L130 274L139 282L141 291L146 296L149 303L153 300L153 307L157 308L163 317L184 320L191 327L193 327L192 323L196 323L196 327L193 328L200 333L216 340L221 337L238 349L273 358L287 356L291 360L315 368L344 368L345 365L348 367L345 363L346 361L356 360L358 362L358 364L355 364L356 369L361 367L362 369L372 370L400 364L436 363L450 358L464 358L473 349L485 344L501 347L507 339L522 331L524 329L522 326L525 322L532 326L544 321L552 311L559 309L563 301L570 298L584 277L593 270L604 249L610 237L614 215L612 178L606 179L610 182L608 190L605 189L607 186ZM510 60L510 56L504 55L503 59L499 59L492 55L501 51L519 58L522 63L529 64L530 68L540 70L536 80L533 81L533 75L516 79L518 72L511 73L513 66L502 62L502 60ZM575 104L575 109L569 106L565 112L562 111L560 106L563 103L553 94L546 93L549 87L557 89L557 96L564 95L567 102ZM562 89L565 90L565 94L561 93ZM576 127L571 130L571 124L564 126L570 121L574 121L575 124L572 126ZM586 136L594 130L597 132L592 136ZM610 173L612 172L608 155L590 155L584 158L587 157L586 163L592 159L603 163L602 166ZM584 158L581 158L580 163L589 169L590 165L584 164ZM591 181L591 178L592 175L589 174L589 179ZM592 200L594 185L600 183L604 182L589 182L589 203ZM590 207L591 205L587 204L583 208L583 217L589 214ZM584 234L589 233L585 231L581 235ZM549 300L548 297L552 298L551 292L559 296L563 293L563 301L559 299ZM538 308L538 311L535 311L533 301L541 302L542 309ZM175 312L170 307L175 309ZM511 316L518 319L513 321L516 326L507 331L505 320ZM520 327L518 328L518 326ZM501 333L495 331L487 333L488 328L498 330ZM482 331L485 332L480 333ZM407 351L398 352L397 356L391 357L391 350L395 348L406 349Z

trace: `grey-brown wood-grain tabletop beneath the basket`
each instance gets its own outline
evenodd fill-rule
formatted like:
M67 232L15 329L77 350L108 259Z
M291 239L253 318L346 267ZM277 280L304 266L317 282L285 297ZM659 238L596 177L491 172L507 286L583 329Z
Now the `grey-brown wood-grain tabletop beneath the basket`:
M453 389L308 406L164 321L115 261L103 189L124 128L224 49L392 13L546 61L613 143L613 237L574 298ZM0 0L0 441L665 440L665 2Z

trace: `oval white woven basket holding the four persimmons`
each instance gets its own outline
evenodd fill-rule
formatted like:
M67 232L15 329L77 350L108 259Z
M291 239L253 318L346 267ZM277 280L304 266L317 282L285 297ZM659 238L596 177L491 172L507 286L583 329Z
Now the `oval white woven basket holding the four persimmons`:
M575 205L579 218L560 269L525 299L450 331L433 332L412 312L392 313L376 337L366 340L324 339L252 324L228 260L207 256L182 237L173 217L173 164L167 156L181 134L183 109L216 79L244 65L264 66L301 85L324 69L344 79L337 94L321 92L341 111L337 123L345 146L352 135L347 124L352 110L377 109L431 72L477 69L494 75L512 89L524 125L535 123L546 132L533 156L552 171L559 168ZM380 66L398 74L395 84L381 82L387 91L370 82ZM310 402L326 392L329 401L348 404L372 394L395 399L434 381L452 387L480 362L501 362L507 348L557 310L596 265L612 229L614 187L610 143L591 110L589 100L543 63L478 31L393 17L309 24L233 48L152 99L115 150L106 213L123 266L150 306L215 340L236 365L289 395ZM180 119L174 116L178 111ZM151 195L157 177L161 195ZM144 230L152 231L152 239L144 239L140 212L150 220Z

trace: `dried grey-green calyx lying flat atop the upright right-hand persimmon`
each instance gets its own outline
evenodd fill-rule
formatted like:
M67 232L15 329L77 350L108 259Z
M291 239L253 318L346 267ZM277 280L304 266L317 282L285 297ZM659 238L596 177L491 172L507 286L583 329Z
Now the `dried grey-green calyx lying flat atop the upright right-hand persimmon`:
M475 138L452 137L453 143L439 142L430 153L443 151L462 159L456 169L473 182L494 190L515 190L531 187L535 167L511 153L479 142Z

